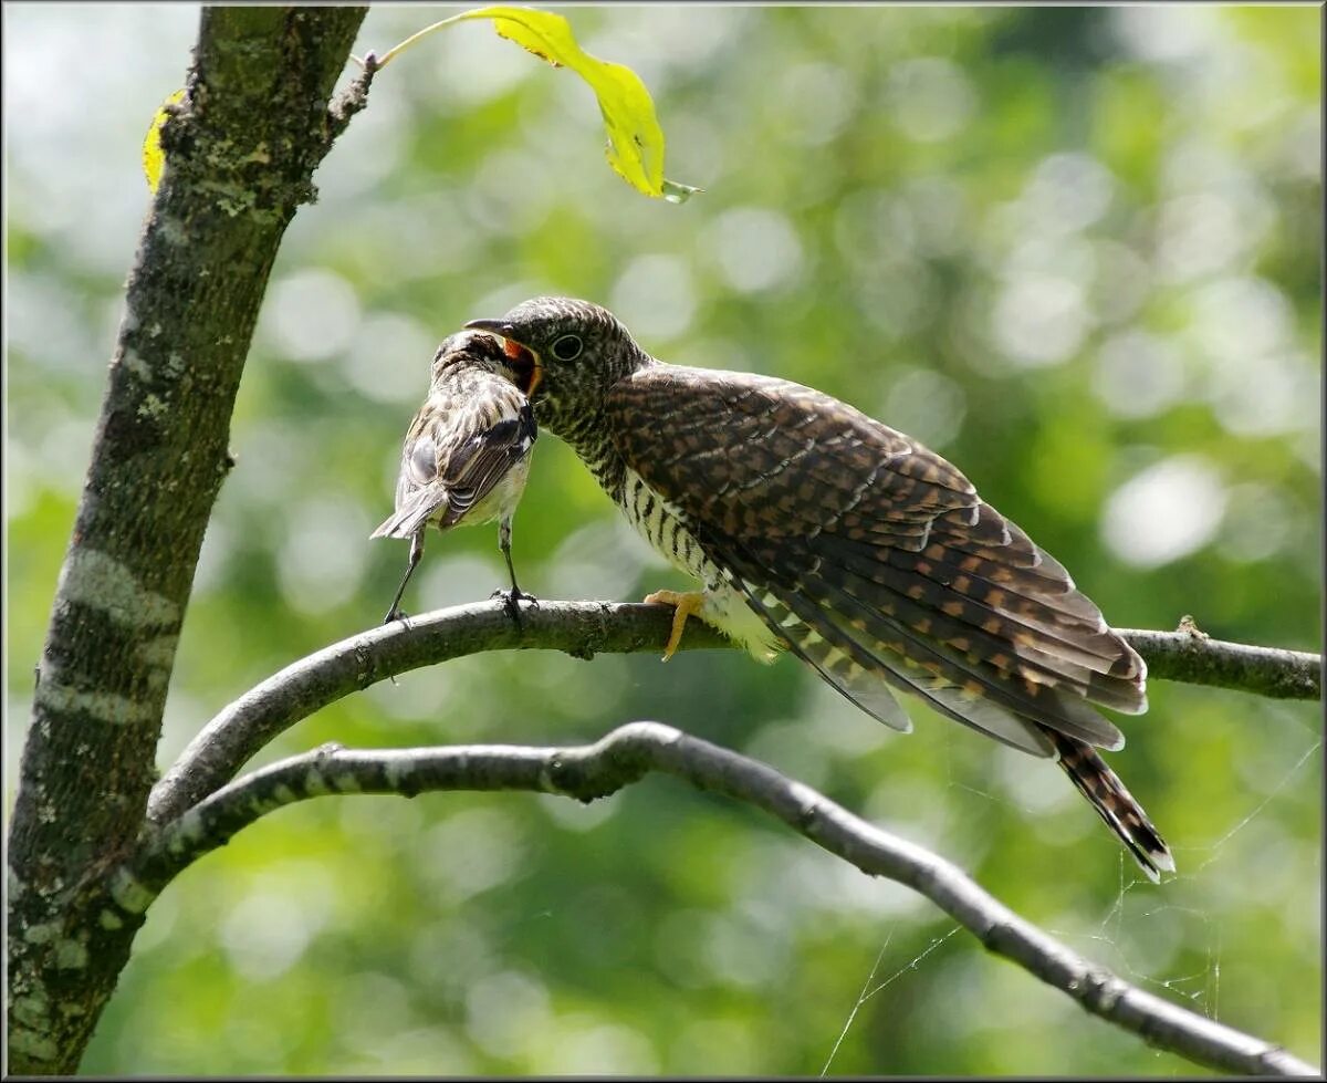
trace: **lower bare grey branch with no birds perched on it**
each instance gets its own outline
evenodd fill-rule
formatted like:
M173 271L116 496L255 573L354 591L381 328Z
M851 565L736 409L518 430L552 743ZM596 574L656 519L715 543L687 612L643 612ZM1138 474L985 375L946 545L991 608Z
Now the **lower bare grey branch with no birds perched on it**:
M324 746L245 775L173 820L117 873L115 897L126 910L141 913L191 861L267 812L308 798L531 790L589 802L650 771L754 804L863 872L913 888L991 952L1153 1046L1231 1074L1319 1075L1278 1046L1129 985L1015 914L957 865L853 816L811 787L657 722L633 722L594 745L571 749Z

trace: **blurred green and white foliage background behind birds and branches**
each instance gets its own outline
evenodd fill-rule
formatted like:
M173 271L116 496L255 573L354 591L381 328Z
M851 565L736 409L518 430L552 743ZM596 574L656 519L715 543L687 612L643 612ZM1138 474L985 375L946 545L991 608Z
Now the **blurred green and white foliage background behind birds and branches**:
M376 8L357 52L455 9ZM435 344L540 292L657 356L813 384L954 459L1125 628L1192 613L1320 649L1316 8L567 8L653 92L670 178L605 166L589 90L451 28L377 81L289 230L236 406L165 767L224 703L381 620L370 543ZM5 812L121 289L139 143L198 9L5 5ZM348 70L346 78L352 77ZM682 580L540 441L522 584ZM406 605L487 597L495 528ZM571 743L656 718L959 861L1145 989L1318 1062L1318 705L1156 681L1112 762L1180 875L1140 875L1050 763L912 705L900 737L735 652L450 662L263 760ZM859 997L869 993L859 1006ZM654 778L342 798L268 816L153 906L84 1062L104 1074L1190 1072L989 957L925 901Z

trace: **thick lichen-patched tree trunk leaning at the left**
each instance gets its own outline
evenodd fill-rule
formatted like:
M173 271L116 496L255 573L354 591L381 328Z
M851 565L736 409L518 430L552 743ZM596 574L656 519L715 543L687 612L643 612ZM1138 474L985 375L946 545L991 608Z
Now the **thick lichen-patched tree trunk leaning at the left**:
M357 105L329 110L329 97L365 11L204 8L186 100L162 131L166 175L129 279L9 831L12 1072L78 1066L142 924L107 871L143 826L249 338L281 235Z

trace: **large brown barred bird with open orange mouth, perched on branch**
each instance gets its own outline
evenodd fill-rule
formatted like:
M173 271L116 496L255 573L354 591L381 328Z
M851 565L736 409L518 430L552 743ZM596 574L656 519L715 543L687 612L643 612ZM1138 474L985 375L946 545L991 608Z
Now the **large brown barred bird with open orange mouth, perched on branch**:
M811 388L656 361L588 301L466 326L532 368L539 423L701 581L646 597L675 607L667 654L697 614L758 656L791 650L897 730L912 723L894 693L917 695L1054 757L1153 881L1174 869L1093 749L1124 735L1089 702L1145 711L1145 664L955 467Z

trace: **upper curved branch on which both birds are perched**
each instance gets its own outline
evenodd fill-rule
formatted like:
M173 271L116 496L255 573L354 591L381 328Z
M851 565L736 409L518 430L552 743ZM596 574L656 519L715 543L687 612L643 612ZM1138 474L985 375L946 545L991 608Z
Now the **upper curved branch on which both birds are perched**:
M596 653L662 652L671 612L665 605L541 601L537 609L522 609L518 628L500 603L476 603L361 632L293 662L208 722L153 790L149 819L165 823L179 816L234 778L277 734L386 677L482 650L544 648L587 660ZM1316 654L1196 641L1186 632L1121 634L1154 665L1153 677L1302 699L1322 694ZM682 649L721 646L733 642L701 621L687 624Z

